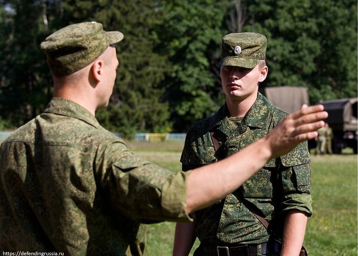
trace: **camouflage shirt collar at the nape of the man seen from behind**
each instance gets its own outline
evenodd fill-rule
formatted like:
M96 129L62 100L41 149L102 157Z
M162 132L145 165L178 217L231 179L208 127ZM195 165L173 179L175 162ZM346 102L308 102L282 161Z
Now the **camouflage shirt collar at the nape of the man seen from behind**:
M44 113L70 116L82 120L96 128L101 127L96 117L93 116L86 108L82 107L74 101L63 98L53 97L47 105Z

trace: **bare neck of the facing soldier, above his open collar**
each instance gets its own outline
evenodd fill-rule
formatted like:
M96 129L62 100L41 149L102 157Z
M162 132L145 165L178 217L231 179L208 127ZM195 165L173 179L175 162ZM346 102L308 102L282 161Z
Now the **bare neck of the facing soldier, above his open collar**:
M226 97L226 105L230 117L243 117L251 109L257 99L257 94L250 95L245 99L232 99Z

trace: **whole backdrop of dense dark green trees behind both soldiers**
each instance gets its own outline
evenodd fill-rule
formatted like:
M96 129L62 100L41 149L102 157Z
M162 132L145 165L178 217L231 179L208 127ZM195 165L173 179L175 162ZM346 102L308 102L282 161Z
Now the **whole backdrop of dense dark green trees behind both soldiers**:
M229 32L268 39L260 86L304 86L311 103L357 96L357 2L353 0L0 0L0 128L39 114L52 79L39 44L55 30L96 20L120 30L112 131L185 132L224 98L220 44Z

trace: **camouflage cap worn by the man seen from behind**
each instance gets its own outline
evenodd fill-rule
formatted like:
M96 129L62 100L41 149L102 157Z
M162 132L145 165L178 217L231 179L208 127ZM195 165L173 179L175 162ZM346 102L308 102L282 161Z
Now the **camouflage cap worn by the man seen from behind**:
M96 60L110 44L123 39L119 31L106 32L101 23L82 22L49 35L40 45L52 75L76 72Z

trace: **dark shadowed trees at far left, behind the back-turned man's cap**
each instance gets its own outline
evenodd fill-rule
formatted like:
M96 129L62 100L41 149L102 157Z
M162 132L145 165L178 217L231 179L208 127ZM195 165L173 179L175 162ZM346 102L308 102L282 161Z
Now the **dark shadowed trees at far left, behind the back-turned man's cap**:
M1 38L1 116L20 126L43 110L50 97L46 59L39 51L45 33L39 1L3 1Z

